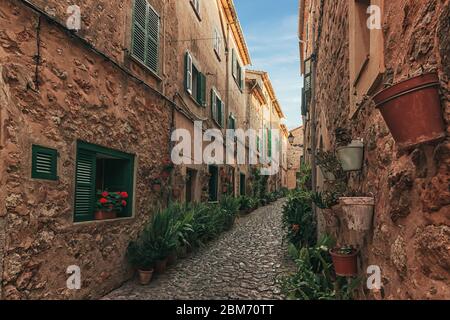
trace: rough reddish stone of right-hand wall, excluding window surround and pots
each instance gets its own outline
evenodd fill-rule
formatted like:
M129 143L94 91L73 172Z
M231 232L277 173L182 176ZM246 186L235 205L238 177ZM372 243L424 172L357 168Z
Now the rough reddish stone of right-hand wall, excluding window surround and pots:
M388 299L449 298L449 139L401 152L372 101L361 106L355 119L349 119L348 7L346 2L324 3L317 64L318 114L325 114L321 124L328 129L331 148L337 127L364 139L364 168L352 174L350 187L372 193L376 199L362 271L368 265L381 267ZM449 133L449 1L384 3L387 71L381 83L437 70Z

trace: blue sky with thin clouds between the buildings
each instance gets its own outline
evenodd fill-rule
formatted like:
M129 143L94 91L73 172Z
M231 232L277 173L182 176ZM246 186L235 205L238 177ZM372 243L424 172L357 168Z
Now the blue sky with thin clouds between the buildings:
M269 73L286 115L286 125L301 125L298 0L234 0L252 58L251 69Z

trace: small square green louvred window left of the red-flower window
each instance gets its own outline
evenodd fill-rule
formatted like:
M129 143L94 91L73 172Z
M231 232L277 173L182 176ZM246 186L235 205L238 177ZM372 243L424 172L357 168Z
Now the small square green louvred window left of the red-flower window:
M58 180L58 151L33 145L31 153L31 178Z

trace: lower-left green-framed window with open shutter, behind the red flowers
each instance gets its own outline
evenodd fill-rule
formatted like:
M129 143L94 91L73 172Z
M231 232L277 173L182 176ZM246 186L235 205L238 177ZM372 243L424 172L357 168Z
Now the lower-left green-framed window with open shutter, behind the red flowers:
M127 192L127 205L118 217L131 217L134 185L132 154L79 141L75 170L75 222L94 220L97 194Z

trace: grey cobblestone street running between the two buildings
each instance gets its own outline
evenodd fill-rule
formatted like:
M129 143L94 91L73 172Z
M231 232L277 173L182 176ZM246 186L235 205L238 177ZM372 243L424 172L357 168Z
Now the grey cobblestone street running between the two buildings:
M282 244L283 203L238 218L230 232L149 286L133 279L104 299L282 299L277 279L289 265Z

